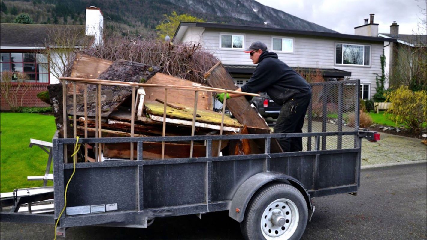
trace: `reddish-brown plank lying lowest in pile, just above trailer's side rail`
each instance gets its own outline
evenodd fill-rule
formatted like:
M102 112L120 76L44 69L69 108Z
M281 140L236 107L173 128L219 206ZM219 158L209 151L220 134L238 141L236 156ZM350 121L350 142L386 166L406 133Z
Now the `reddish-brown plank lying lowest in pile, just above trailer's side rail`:
M165 143L164 153L162 154L161 142L143 142L144 159L168 159L168 158L184 158L190 156L189 144ZM134 146L134 155L137 154L137 145ZM205 145L194 145L193 157L206 156ZM113 143L104 145L104 156L110 158L129 159L131 155L129 143ZM162 156L163 155L163 156Z

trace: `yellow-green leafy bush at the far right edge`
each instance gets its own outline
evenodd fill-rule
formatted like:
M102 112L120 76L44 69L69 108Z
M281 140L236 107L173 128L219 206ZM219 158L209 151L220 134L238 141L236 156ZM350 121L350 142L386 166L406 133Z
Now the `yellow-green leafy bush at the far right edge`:
M421 130L427 119L427 91L412 92L407 86L402 86L387 95L391 102L386 113L396 124L405 124L412 131Z

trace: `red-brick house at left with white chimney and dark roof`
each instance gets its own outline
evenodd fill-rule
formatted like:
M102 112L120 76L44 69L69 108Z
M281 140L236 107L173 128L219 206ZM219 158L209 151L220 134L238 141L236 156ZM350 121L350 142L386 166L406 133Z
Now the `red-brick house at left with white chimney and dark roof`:
M86 9L86 25L47 25L1 23L0 69L1 72L21 72L29 77L26 85L31 85L23 96L23 107L47 107L48 104L37 98L37 94L46 91L49 84L59 83L54 72L63 67L61 51L49 56L50 49L79 48L80 43L89 39L92 44L102 44L103 17L99 8ZM56 46L54 39L59 34L78 36L76 46ZM85 41L86 42L86 41ZM66 43L61 43L66 45ZM12 79L13 81L14 79ZM23 94L18 90L18 98ZM1 110L9 110L9 105L1 96Z

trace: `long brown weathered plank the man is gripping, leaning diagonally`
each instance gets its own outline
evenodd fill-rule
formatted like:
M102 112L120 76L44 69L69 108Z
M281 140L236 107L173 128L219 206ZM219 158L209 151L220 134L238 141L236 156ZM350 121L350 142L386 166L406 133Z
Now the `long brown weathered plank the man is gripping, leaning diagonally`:
M233 78L224 68L221 62L218 62L209 69L205 74L205 79L211 87L217 87L227 90L237 90L238 87L234 84ZM249 133L254 134L253 128L257 129L257 133L271 133L266 121L261 117L257 110L251 106L245 97L230 98L226 103L228 109L233 113L237 121L249 127ZM254 140L258 146L263 146L263 141ZM271 152L283 152L277 139L271 140Z

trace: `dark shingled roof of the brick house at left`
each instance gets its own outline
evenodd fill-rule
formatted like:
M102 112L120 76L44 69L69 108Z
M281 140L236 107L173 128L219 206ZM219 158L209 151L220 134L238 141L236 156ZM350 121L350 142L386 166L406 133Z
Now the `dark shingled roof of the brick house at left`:
M14 48L44 47L45 40L49 39L54 32L66 32L85 36L85 25L50 25L50 24L0 24L0 46ZM83 40L82 40L83 42Z

